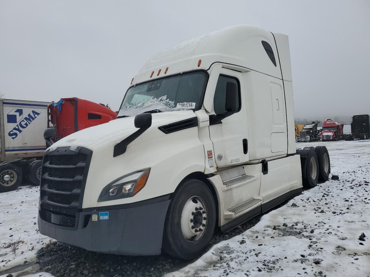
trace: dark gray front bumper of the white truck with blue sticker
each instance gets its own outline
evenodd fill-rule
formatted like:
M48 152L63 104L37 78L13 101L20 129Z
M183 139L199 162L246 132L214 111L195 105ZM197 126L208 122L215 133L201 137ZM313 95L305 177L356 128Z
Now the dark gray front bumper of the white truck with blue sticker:
M49 223L40 218L39 212L38 228L43 235L89 251L158 255L169 202L169 195L165 195L132 204L83 209L76 215L75 228ZM100 219L101 212L103 218L108 212L108 219Z

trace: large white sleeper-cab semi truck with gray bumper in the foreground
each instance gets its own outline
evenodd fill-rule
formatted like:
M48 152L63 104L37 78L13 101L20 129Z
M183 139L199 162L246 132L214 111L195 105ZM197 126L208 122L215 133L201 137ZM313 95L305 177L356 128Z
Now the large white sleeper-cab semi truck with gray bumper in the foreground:
M116 120L47 149L38 227L91 251L194 259L215 228L329 173L325 147L296 150L288 37L238 25L155 55Z

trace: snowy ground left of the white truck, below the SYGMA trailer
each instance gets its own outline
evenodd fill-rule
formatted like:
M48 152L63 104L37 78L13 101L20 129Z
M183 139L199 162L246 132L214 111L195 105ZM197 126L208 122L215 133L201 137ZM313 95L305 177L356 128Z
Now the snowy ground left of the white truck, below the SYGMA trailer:
M34 186L0 193L0 275L6 269L36 260L37 250L50 242L49 237L38 232L39 196L40 187Z

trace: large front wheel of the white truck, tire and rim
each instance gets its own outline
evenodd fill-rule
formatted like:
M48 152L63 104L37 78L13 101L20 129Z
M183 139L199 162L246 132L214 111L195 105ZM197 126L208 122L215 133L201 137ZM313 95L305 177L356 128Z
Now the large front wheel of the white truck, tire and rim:
M215 229L216 207L212 192L202 181L189 179L171 198L162 249L179 259L195 259L205 251Z

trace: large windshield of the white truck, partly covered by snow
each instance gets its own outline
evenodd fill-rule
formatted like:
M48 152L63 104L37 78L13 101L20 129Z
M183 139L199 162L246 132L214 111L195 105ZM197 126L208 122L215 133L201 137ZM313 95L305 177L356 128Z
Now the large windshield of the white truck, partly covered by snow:
M197 71L132 86L127 90L118 117L144 112L199 110L206 79L205 72Z

